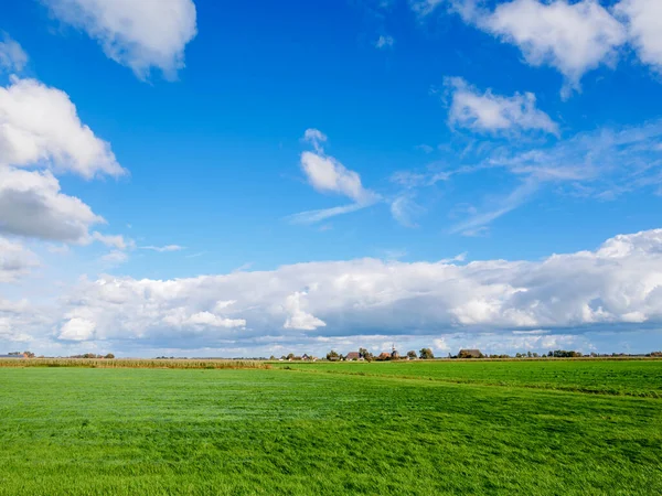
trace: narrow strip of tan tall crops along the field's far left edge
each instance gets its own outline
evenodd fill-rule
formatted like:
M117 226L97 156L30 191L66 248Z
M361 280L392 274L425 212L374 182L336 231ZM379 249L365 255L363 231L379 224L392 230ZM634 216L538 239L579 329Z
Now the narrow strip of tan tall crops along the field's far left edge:
M0 367L82 367L82 368L209 368L209 369L269 369L260 360L222 359L132 359L132 358L6 358Z

